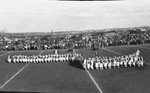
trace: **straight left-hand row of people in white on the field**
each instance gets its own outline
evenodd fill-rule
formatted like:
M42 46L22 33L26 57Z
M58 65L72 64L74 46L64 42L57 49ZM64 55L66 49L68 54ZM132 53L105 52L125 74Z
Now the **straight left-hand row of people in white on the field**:
M55 51L55 54L48 55L8 55L9 63L49 63L49 62L67 62L75 60L74 53L70 54L58 54Z

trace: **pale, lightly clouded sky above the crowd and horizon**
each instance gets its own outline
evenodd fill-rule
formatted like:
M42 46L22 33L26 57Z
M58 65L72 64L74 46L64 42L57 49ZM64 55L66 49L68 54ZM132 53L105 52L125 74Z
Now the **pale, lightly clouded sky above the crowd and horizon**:
M51 32L150 26L150 0L0 0L0 31Z

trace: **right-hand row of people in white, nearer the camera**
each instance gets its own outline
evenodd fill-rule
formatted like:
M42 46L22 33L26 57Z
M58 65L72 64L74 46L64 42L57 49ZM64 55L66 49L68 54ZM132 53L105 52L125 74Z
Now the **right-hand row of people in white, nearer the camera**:
M95 57L84 58L83 67L85 69L111 69L128 66L143 66L143 57L139 55L139 50L131 55L118 57Z

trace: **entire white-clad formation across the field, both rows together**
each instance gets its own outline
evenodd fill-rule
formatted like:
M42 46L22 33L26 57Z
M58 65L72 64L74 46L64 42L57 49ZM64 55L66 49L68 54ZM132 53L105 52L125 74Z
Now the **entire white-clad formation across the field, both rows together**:
M48 55L8 55L8 63L50 63L50 62L76 62L79 61L84 69L111 69L120 67L131 67L131 66L143 66L143 57L140 55L140 51L137 50L135 53L123 56L114 57L101 57L95 55L95 57L86 58L82 54L75 52L69 54L58 54L55 50L54 54Z

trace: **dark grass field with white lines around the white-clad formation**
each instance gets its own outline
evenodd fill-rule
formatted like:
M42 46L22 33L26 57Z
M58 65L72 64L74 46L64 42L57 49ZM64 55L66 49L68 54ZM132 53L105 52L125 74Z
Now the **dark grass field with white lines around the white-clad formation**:
M83 70L63 63L7 63L8 54L51 54L53 50L0 52L0 91L47 93L150 93L150 45L118 46L99 49L101 56L131 54L137 49L144 57L144 67L110 70ZM86 57L90 49L76 49ZM60 50L61 54L68 53Z

